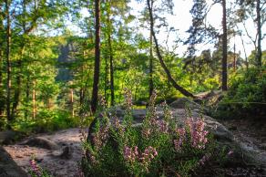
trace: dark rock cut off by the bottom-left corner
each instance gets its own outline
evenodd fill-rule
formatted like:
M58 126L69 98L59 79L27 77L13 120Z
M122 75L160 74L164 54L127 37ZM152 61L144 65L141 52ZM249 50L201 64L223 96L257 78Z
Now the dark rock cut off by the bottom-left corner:
M26 177L27 174L17 166L11 156L0 146L0 176L1 177Z

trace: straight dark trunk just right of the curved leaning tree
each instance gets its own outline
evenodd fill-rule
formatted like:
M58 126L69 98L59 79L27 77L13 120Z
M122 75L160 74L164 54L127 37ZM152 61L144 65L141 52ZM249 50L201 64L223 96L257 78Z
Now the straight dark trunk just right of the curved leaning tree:
M227 20L226 20L226 0L222 0L222 74L221 89L227 90Z

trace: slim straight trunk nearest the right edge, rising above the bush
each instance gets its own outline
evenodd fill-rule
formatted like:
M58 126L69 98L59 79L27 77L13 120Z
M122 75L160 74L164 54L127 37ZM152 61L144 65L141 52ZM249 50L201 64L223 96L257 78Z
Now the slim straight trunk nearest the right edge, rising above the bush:
M257 34L258 34L258 47L257 47L257 54L256 54L256 60L257 60L257 67L261 67L261 0L256 0L256 14L257 14Z

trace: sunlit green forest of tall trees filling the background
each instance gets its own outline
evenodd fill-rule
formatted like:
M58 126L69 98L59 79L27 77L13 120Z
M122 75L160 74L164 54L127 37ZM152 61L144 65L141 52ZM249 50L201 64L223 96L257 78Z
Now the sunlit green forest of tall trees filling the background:
M264 1L95 3L0 1L1 129L87 114L97 96L120 104L126 88L136 105L154 89L159 100L195 98L265 66ZM177 28L180 5L190 13L187 35Z

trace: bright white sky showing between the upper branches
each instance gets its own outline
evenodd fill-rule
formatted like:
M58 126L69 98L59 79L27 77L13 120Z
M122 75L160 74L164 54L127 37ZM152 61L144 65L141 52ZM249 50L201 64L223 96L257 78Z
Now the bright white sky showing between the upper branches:
M193 5L192 0L173 0L173 2L174 2L174 8L173 8L174 15L173 16L168 15L166 17L168 19L169 26L173 26L175 29L178 29L178 32L177 32L178 34L172 33L169 35L168 46L170 49L171 49L171 46L174 44L173 41L177 40L177 36L179 36L179 38L181 39L186 39L189 37L189 34L186 31L189 29L189 26L191 25L192 18L189 13L189 10L191 9ZM207 0L207 2L212 2L212 0ZM230 0L227 2L228 2L227 5L230 5ZM135 16L139 16L139 11L141 11L145 7L145 5L146 5L145 1L144 3L137 3L136 0L131 0L131 3L129 4L129 6L132 7L131 14ZM83 9L82 11L83 11L83 15L86 16L87 15L86 9ZM221 5L217 4L211 7L209 16L207 16L207 20L210 22L210 25L220 30L221 30L221 15L222 15ZM139 26L138 20L132 22L130 26ZM256 28L254 26L254 23L252 23L251 21L248 22L248 31L251 36L255 37ZM265 33L265 31L266 31L266 25L263 26L262 33L263 32ZM138 32L143 34L147 38L149 36L148 29L139 28ZM160 33L158 34L160 45L166 47L165 41L167 39L167 36L168 36L168 33L165 32L165 29L160 29ZM251 54L251 50L253 50L254 47L251 44L251 40L249 39L248 36L242 36L242 37L244 39L244 45L245 45L247 55L249 56ZM231 51L233 50L232 48L234 44L236 45L236 53L240 53L240 56L244 57L244 50L243 50L243 46L240 40L240 36L236 36L230 39L229 49ZM262 41L261 47L262 47L262 50L266 50L266 39ZM200 53L200 51L204 49L209 49L209 48L212 48L212 45L207 44L207 45L198 46L197 47L197 49L199 49L198 54ZM186 52L186 50L187 50L187 46L179 44L179 47L175 50L175 52L178 53L180 57L182 57L184 53Z

